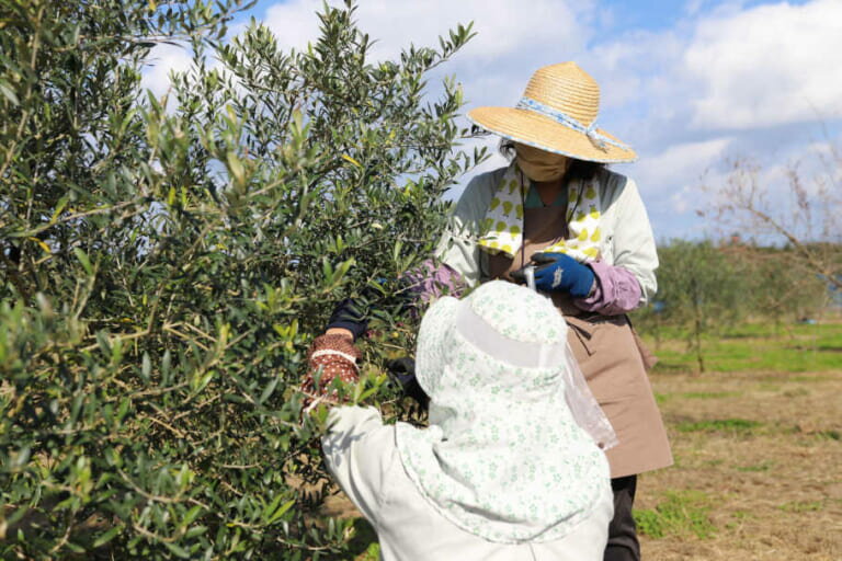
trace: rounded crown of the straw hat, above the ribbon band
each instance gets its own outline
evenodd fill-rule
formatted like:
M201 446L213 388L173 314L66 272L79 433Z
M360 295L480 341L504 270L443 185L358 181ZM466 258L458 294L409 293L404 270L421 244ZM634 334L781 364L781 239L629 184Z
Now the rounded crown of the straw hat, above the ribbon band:
M523 95L569 115L585 127L596 121L600 112L600 87L576 62L538 68Z

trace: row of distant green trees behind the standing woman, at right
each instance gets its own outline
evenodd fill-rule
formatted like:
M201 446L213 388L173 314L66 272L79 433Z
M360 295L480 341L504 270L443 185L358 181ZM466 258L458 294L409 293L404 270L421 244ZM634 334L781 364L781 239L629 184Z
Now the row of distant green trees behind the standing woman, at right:
M808 251L835 255L842 247L806 244ZM660 244L658 294L633 317L637 329L656 342L665 330L682 333L705 370L704 336L747 321L778 328L820 317L834 304L835 283L799 259L803 248L763 247L739 238L715 243L671 240Z

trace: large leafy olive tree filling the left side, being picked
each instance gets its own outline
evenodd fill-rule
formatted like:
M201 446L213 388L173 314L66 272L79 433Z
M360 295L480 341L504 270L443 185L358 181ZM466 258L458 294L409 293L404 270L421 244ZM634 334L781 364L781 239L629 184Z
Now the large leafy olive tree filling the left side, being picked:
M453 151L460 92L428 103L425 76L470 31L372 62L349 3L303 51L257 24L220 44L241 7L0 0L2 558L348 548L297 483L323 478L304 352L365 286L411 345L397 278L482 157ZM159 41L195 56L164 100L139 89ZM384 348L354 400L394 399Z

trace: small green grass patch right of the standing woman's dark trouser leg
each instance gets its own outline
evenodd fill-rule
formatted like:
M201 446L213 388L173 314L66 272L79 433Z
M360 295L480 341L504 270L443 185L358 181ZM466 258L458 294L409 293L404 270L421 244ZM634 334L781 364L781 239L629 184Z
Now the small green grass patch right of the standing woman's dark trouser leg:
M710 522L710 497L702 491L668 491L655 508L634 511L637 529L650 538L695 536L706 539L716 527Z

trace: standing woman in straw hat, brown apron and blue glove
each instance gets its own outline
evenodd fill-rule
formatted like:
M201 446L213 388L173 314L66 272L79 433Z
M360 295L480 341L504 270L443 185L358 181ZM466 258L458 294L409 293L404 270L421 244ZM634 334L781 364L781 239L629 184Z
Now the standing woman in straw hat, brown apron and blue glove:
M658 255L635 182L605 169L635 152L596 127L600 90L574 62L538 69L515 107L478 107L476 125L515 157L475 178L439 255L470 285L525 279L551 297L570 345L617 433L607 450L615 515L605 560L639 559L632 504L637 474L672 463L649 386L651 357L626 312L655 294Z

